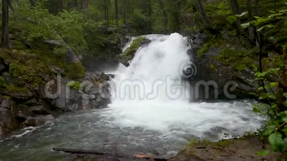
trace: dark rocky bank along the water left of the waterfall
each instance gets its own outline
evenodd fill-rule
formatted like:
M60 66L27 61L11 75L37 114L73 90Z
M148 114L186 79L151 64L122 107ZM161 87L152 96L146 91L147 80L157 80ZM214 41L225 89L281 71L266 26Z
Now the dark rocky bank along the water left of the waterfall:
M9 63L2 61L0 67L1 83L7 85L5 81L12 79L7 73ZM48 77L54 83L47 78L49 85L0 90L0 138L21 127L44 124L64 112L105 108L110 103L109 77L104 73L87 72L84 78L72 81L61 77L62 70L57 69L57 78Z

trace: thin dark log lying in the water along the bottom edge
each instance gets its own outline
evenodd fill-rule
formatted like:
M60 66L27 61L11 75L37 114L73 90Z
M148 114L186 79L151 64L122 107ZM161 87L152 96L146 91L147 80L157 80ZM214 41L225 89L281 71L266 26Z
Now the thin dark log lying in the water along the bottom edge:
M168 161L166 158L156 158L151 156L145 156L145 155L135 155L135 156L128 156L128 155L112 155L104 152L94 151L94 150L83 150L83 149L67 149L67 148L53 148L54 151L58 152L65 152L65 153L71 153L71 154L94 154L94 155L106 155L106 156L116 156L116 157L128 157L128 158L141 158L141 159L147 159L151 161Z

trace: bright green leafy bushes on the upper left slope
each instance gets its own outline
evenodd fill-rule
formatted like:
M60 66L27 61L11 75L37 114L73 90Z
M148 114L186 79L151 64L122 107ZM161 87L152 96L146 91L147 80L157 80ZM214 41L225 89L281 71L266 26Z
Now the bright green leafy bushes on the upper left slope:
M31 7L29 0L18 1L14 9L17 20L12 19L12 30L24 30L21 33L22 40L30 43L64 40L76 53L87 48L81 12L63 10L58 15L53 15L43 5Z

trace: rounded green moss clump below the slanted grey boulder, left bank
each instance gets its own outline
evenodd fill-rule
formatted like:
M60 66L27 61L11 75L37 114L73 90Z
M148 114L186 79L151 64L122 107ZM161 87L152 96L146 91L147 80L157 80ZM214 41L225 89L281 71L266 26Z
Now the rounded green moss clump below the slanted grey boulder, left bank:
M66 66L66 76L71 79L79 79L85 76L85 68L81 62L71 63Z

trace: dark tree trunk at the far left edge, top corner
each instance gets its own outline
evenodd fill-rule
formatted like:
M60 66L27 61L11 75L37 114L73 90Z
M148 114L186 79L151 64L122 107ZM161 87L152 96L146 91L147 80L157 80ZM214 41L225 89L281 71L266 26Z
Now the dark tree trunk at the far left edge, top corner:
M1 47L9 47L9 0L2 0L2 37Z

